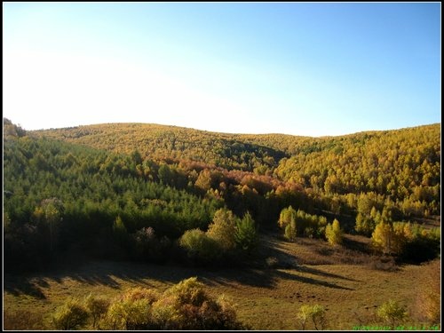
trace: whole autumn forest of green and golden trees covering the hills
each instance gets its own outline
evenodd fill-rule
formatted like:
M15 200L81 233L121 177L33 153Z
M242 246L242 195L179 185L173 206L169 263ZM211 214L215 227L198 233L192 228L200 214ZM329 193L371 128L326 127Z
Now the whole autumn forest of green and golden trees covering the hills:
M64 258L243 267L264 234L360 235L377 256L420 264L440 255L440 123L309 138L144 123L25 131L4 118L3 218L8 271Z

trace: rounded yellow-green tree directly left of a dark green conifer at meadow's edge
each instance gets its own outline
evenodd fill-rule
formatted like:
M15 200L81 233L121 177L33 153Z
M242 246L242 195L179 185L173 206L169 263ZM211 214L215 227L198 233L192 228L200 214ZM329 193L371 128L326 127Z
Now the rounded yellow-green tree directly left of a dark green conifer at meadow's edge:
M208 236L218 242L223 250L233 250L235 247L236 219L231 210L222 208L216 211L208 228Z

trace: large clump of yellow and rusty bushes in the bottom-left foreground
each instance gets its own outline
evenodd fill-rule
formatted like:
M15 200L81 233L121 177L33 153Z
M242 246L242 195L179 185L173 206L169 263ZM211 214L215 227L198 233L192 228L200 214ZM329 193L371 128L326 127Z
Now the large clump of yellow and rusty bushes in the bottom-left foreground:
M115 297L111 304L91 294L84 303L83 307L77 299L67 299L53 315L54 327L79 329L91 313L94 329L96 323L97 329L108 330L243 329L233 303L223 295L217 299L210 297L195 277L178 282L162 294L137 287Z

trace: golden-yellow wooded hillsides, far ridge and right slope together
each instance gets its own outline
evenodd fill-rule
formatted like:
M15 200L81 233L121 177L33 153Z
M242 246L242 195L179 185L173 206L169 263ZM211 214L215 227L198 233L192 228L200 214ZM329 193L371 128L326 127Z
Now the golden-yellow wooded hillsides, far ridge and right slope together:
M33 134L122 154L137 150L142 158L168 163L191 160L212 169L271 176L302 187L324 202L323 209L337 213L357 210L361 199L372 202L369 210L382 210L390 202L399 218L440 215L439 123L323 138L224 134L141 123Z

